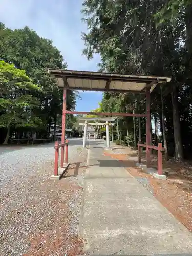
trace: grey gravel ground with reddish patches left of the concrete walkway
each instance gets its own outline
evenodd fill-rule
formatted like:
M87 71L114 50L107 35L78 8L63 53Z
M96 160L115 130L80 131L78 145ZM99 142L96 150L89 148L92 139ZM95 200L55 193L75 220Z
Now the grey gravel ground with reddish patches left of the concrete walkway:
M1 256L82 253L77 234L87 151L82 141L70 141L69 161L74 165L59 181L49 179L53 143L0 155Z

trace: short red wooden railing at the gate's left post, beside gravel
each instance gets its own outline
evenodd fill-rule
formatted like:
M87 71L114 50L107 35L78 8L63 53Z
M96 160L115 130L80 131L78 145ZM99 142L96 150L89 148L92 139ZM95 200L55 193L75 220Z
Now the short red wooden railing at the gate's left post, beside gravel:
M61 164L60 167L64 167L64 163L68 163L68 140L65 143L60 143L59 141L55 141L55 165L54 165L54 175L58 175L58 165L59 165L59 148L61 150ZM62 154L62 152L64 154Z

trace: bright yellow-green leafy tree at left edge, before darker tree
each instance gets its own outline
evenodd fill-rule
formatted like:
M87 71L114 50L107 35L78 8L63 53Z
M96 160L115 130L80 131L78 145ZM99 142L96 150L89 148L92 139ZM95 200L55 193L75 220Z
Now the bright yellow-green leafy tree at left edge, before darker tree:
M13 64L0 61L0 127L29 126L41 124L41 120L32 115L39 101L31 92L39 92L40 87L32 82L24 70Z

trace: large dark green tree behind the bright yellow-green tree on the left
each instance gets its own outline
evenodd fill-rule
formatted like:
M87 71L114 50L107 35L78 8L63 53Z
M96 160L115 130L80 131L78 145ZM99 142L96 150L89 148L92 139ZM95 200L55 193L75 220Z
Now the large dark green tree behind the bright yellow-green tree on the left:
M60 52L51 40L39 37L28 27L11 30L1 23L0 56L7 63L25 70L32 81L38 84L41 90L34 92L33 96L38 98L40 104L34 113L49 126L62 113L63 93L57 88L55 80L50 79L46 69L67 67ZM75 108L76 96L76 92L68 90L68 109Z

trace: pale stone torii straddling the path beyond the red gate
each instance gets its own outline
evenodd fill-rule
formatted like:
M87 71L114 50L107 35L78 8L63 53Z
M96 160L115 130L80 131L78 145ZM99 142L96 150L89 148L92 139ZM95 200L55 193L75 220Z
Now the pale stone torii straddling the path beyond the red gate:
M84 121L84 123L79 123L79 125L84 125L84 135L83 135L83 147L86 147L86 138L87 138L87 129L88 125L98 125L98 126L103 126L106 125L106 147L110 148L110 136L109 136L109 125L114 126L114 123L109 123L109 121L115 121L116 118L114 117L83 117L83 118L78 118L78 120ZM105 121L105 123L88 123L87 121Z

